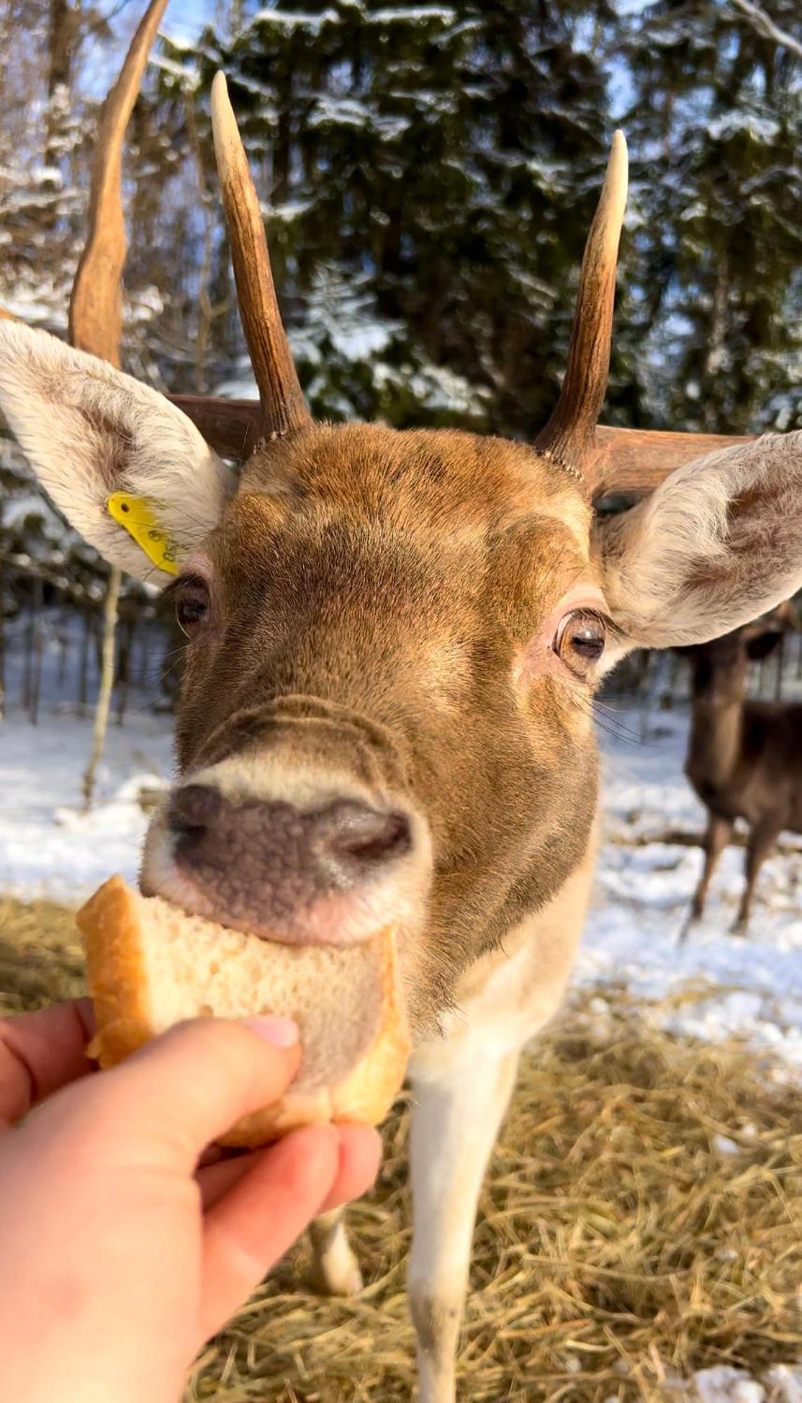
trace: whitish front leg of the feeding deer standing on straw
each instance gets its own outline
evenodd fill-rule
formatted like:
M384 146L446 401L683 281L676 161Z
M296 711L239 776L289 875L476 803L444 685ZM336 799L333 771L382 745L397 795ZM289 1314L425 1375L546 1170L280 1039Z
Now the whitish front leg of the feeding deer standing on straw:
M453 1403L477 1202L506 1110L517 1052L471 1048L442 1075L412 1079L409 1260L421 1403Z

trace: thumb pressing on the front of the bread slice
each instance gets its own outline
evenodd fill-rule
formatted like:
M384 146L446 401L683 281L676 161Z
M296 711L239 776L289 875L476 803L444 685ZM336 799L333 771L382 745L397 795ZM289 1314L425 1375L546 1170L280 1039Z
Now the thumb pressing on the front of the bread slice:
M300 1063L297 1026L265 1016L195 1019L111 1072L67 1087L28 1121L63 1120L84 1150L128 1167L193 1170L234 1121L276 1101Z

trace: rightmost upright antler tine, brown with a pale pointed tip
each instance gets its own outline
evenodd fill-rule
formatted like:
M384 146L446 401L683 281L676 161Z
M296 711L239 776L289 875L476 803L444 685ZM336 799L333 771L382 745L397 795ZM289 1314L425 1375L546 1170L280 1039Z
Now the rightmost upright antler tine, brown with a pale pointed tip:
M548 424L534 441L541 452L571 466L580 466L586 457L607 390L627 167L627 142L623 132L616 132L585 244L565 380Z

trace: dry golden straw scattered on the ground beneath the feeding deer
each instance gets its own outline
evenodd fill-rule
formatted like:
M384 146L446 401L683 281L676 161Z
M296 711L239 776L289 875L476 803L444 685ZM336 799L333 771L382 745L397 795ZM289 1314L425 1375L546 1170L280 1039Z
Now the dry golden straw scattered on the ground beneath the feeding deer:
M7 1007L69 992L57 908L0 906ZM715 1364L760 1376L802 1352L802 1099L735 1044L674 1040L623 991L578 996L523 1063L481 1202L460 1355L471 1403L674 1399ZM188 1399L400 1403L407 1108L351 1211L367 1287L325 1301L301 1244L202 1354Z

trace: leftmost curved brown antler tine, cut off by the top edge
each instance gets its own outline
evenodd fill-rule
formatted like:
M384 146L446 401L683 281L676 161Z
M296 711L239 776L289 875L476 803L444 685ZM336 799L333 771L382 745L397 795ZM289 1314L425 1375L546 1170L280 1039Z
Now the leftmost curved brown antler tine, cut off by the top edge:
M167 0L151 0L132 39L100 119L90 191L90 234L70 299L70 341L119 366L121 276L128 251L122 215L122 143L139 95L150 45Z

